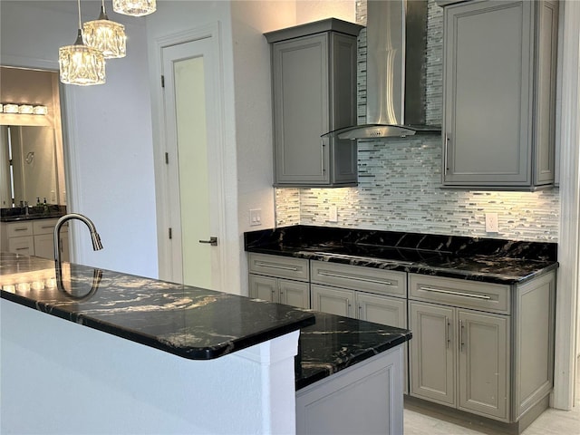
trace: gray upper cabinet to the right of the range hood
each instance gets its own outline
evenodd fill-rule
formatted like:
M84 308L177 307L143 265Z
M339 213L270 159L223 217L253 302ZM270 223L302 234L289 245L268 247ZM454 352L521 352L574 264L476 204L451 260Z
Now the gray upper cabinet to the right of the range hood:
M552 186L557 2L440 5L443 186Z

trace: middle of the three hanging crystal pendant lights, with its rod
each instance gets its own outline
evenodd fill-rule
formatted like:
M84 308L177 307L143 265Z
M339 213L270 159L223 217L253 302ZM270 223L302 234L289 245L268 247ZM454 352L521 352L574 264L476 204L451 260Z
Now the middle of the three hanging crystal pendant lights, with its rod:
M102 0L99 18L82 24L82 39L88 46L102 51L105 59L125 57L125 26L109 19L105 12L105 0Z

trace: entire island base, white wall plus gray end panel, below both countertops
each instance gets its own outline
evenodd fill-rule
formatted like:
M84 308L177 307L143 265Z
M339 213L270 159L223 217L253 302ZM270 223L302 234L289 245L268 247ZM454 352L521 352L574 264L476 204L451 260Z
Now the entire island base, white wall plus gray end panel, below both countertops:
M199 361L0 309L3 434L402 433L402 344L296 392L298 331Z

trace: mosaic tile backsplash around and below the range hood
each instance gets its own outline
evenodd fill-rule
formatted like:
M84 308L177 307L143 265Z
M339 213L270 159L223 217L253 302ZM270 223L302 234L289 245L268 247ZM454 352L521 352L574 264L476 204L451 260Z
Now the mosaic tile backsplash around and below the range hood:
M358 1L357 22L366 22ZM441 123L442 9L429 1L426 118ZM359 123L364 122L366 33L359 37ZM276 189L276 225L318 225L467 237L556 242L559 190L498 192L441 189L441 140L422 136L359 142L359 186ZM337 208L337 222L329 210ZM485 214L498 213L498 233L487 233Z

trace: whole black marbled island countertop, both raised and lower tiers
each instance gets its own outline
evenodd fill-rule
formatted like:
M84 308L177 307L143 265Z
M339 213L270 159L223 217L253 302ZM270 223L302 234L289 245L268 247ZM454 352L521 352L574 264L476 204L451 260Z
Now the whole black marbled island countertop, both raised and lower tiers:
M52 260L0 254L3 299L185 358L300 329L296 389L411 339L400 328L88 266L63 263L63 287L56 280Z

